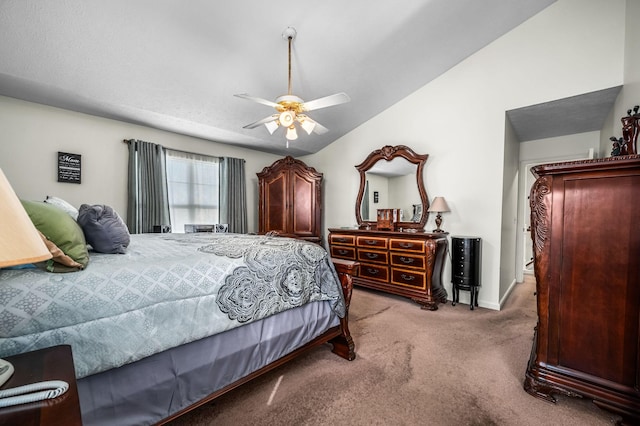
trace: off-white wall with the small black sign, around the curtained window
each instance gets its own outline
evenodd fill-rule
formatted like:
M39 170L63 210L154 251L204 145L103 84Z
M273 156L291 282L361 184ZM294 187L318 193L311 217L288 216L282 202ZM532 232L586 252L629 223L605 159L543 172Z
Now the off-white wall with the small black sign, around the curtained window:
M54 195L79 207L107 204L126 217L128 146L141 139L167 148L246 160L249 232L258 229L256 173L280 158L144 126L0 96L0 168L19 197ZM82 155L82 183L57 182L58 151Z

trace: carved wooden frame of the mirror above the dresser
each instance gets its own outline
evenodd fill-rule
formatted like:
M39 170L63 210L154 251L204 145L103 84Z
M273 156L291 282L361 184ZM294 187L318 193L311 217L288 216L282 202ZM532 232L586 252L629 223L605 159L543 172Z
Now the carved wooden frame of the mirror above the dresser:
M427 198L427 191L424 187L424 165L429 158L429 154L416 154L411 148L405 145L386 145L382 149L373 151L362 163L356 166L358 172L360 172L360 190L358 191L358 198L356 199L356 220L360 228L370 227L376 229L376 221L362 220L362 213L360 211L362 206L362 198L364 197L364 189L366 185L365 173L371 169L378 161L391 161L394 158L404 158L412 164L418 166L416 170L416 184L418 185L418 192L420 193L420 200L422 202L422 217L420 222L398 222L398 227L402 229L415 229L423 230L429 220L429 199Z

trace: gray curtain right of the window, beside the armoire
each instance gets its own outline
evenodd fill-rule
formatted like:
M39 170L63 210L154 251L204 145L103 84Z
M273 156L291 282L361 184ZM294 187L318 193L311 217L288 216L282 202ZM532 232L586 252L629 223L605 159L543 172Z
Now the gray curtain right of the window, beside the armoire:
M244 160L220 159L220 223L229 224L229 232L247 232L247 183Z

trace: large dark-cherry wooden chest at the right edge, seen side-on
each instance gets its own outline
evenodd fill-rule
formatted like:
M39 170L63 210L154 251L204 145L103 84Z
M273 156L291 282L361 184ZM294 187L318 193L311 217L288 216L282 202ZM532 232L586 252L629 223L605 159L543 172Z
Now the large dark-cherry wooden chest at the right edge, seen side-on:
M640 424L640 156L532 171L538 324L524 388Z

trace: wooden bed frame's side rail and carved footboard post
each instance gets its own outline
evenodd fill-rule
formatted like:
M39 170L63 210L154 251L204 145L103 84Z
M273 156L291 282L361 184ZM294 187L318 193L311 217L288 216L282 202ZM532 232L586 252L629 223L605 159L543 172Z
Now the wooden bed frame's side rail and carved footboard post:
M330 343L333 345L332 352L339 355L340 357L353 361L356 358L355 352L355 344L353 343L353 339L351 338L351 333L349 332L349 304L351 303L351 293L353 291L353 276L357 275L359 263L352 262L348 260L342 259L332 259L333 264L335 265L336 271L338 272L338 277L340 278L340 284L342 286L342 291L344 293L344 301L346 306L346 312L344 318L340 320L340 325L330 328L322 335L316 337L311 342L307 343L304 346L296 349L295 351L289 353L288 355L278 359L277 361L272 362L269 365L262 367L259 370L254 371L248 376L243 377L240 380L237 380L222 389L217 390L216 392L210 394L206 398L201 399L200 401L188 406L187 408L176 412L175 414L163 419L158 422L157 425L166 424L176 418L192 411L204 404L207 404L214 399L230 392L231 390L250 382L251 380L262 376L263 374L291 361L297 356L307 352L308 350L315 348L316 346Z

